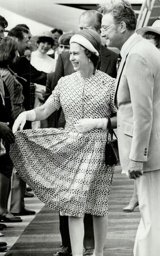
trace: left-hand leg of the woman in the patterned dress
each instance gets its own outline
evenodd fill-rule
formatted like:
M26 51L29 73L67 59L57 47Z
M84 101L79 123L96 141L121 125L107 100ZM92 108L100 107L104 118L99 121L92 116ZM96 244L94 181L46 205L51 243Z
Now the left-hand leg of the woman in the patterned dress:
M72 256L83 256L84 223L83 217L69 216L69 235Z

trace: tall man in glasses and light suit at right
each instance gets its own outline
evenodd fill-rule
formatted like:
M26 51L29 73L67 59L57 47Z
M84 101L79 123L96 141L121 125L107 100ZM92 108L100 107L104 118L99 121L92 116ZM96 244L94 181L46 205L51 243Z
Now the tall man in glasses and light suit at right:
M115 90L122 169L136 179L141 221L134 256L160 255L160 51L135 33L136 15L122 1L104 9L102 36L120 50Z

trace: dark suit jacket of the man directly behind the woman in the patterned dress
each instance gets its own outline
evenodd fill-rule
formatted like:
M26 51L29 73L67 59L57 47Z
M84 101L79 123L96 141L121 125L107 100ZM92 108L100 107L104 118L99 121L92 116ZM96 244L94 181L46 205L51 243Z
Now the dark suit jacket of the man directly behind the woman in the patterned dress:
M111 51L104 46L101 48L101 71L105 72L111 77L116 77L116 61L118 58L118 54L115 53L114 51ZM67 75L72 74L74 71L73 66L71 62L69 61L69 52L64 52L62 54L59 54L58 59L57 59L57 65L52 81L52 90L54 90L55 86L57 85L58 80L61 77L65 77ZM65 127L65 116L61 108L57 112L57 118L58 118L58 127ZM59 119L59 116L60 119ZM57 121L56 121L57 123Z

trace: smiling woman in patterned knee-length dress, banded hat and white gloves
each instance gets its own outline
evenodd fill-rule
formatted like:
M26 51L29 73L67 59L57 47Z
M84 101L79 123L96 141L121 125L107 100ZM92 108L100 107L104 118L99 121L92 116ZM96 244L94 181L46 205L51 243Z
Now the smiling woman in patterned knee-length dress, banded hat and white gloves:
M94 256L103 256L114 167L105 166L108 117L116 126L115 79L99 71L101 40L84 29L70 39L75 73L61 77L46 103L21 114L11 157L21 177L46 205L69 215L73 256L83 255L84 213L93 215ZM62 106L65 129L22 130Z

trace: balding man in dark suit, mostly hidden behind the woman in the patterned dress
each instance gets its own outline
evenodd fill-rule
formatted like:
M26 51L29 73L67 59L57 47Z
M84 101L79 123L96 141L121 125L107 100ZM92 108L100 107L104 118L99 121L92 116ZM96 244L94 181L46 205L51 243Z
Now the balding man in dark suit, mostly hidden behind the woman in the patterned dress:
M79 30L84 28L91 28L101 33L101 20L102 14L96 10L89 10L82 13L79 19ZM102 45L102 55L101 55L101 71L107 73L111 77L116 77L116 61L118 55L105 48ZM53 76L53 81L51 85L51 90L54 90L57 85L58 80L61 77L70 75L74 72L73 66L69 61L69 52L64 52L59 54L56 69ZM59 118L60 116L60 118ZM55 120L54 120L55 118ZM64 128L66 121L63 111L59 109L51 122L51 127ZM93 234L93 223L92 216L85 214L84 217L84 226L85 226L85 235L84 235L84 247L85 254L84 256L89 256L93 254L94 250L94 234ZM63 247L55 253L55 256L69 256L70 255L70 240L69 240L69 228L68 228L68 216L60 216L60 232L62 237ZM66 249L68 248L68 249Z

